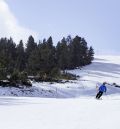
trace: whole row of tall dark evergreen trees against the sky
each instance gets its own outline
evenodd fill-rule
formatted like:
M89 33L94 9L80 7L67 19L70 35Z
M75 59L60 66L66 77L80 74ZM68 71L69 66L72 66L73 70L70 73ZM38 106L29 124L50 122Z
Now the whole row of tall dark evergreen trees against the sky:
M22 40L16 44L12 38L0 39L0 80L16 72L56 76L60 70L85 66L94 59L92 46L88 47L86 40L79 36L63 37L56 46L51 36L39 43L29 36L24 44Z

